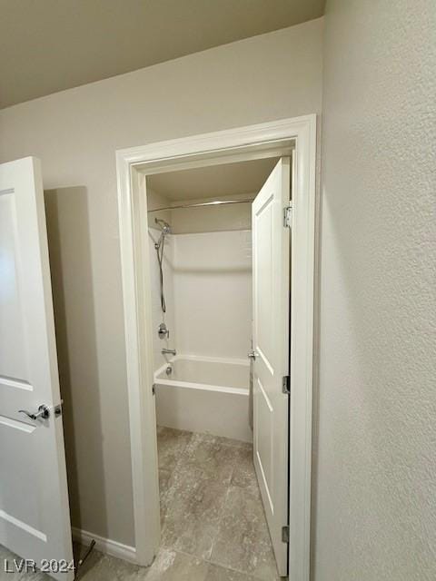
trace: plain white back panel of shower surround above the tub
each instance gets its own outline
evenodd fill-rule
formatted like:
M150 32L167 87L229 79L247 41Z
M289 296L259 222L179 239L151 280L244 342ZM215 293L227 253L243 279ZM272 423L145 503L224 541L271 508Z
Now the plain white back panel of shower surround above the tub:
M251 231L172 238L172 346L189 355L246 358L252 335Z

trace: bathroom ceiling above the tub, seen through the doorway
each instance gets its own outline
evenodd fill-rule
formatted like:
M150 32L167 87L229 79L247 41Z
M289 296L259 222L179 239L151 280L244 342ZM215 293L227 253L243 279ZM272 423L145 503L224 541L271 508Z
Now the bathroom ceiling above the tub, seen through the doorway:
M262 188L277 160L274 157L156 173L147 177L147 186L171 202L253 194Z

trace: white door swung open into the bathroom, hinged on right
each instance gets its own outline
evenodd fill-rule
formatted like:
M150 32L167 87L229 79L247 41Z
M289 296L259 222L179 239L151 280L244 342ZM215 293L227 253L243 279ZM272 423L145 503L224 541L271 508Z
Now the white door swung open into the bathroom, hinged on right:
M272 170L253 207L253 454L279 575L287 575L290 159Z

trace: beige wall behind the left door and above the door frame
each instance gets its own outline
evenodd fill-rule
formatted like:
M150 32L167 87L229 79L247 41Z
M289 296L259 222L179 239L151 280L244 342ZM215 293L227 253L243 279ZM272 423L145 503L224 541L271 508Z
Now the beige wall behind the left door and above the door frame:
M75 526L134 544L115 149L320 113L322 20L0 112L42 159Z

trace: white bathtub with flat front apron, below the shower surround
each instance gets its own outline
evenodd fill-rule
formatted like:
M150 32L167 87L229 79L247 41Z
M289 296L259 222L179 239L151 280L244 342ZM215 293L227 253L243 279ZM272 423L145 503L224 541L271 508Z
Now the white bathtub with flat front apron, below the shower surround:
M249 374L246 359L176 355L154 373L157 424L251 442Z

